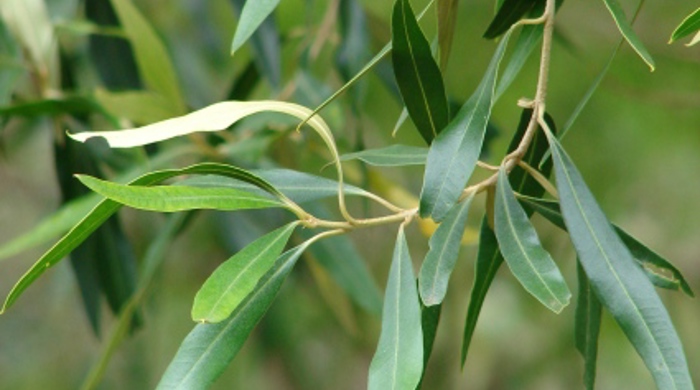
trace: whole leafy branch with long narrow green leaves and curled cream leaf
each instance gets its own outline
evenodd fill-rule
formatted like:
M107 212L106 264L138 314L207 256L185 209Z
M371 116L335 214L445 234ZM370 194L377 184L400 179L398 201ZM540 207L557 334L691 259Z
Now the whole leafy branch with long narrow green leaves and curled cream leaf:
M651 55L635 35L619 4L615 0L605 0L604 3L623 38L653 70ZM10 308L48 268L71 254L95 330L99 330L100 292L106 295L112 310L119 314L114 336L106 346L103 360L88 378L87 387L99 381L114 347L130 326L139 323L139 303L162 261L164 247L181 230L188 215L173 214L168 219L141 261L137 276L133 251L121 231L117 214L123 205L162 213L199 209L282 209L288 212L286 223L271 228L269 233L238 251L202 285L192 307L192 319L199 324L182 342L159 388L204 388L213 383L240 351L297 260L308 250L324 259L327 272L358 306L371 313L381 313L382 329L369 367L369 388L413 389L420 386L431 353L441 305L467 227L470 205L482 192L487 194L487 214L480 228L475 279L462 343L462 364L487 291L504 261L524 289L545 307L560 313L569 305L572 294L568 284L557 263L542 247L530 222L530 217L538 213L569 232L578 256L576 347L585 359L586 387L594 387L603 308L618 322L659 388L693 387L682 344L654 288L680 289L692 295L690 287L670 262L608 221L560 144L605 70L558 134L554 121L543 111L544 101L526 107L513 136L510 154L499 167L487 166L493 171L492 180L468 186L480 163L493 105L517 77L536 45L551 39L552 31L547 31L546 27L553 23L554 1L505 0L498 3L498 12L484 37L500 38L500 41L480 84L456 112L451 112L454 110L448 103L441 69L444 69L451 50L457 0L438 0L436 3L438 32L435 46L431 46L419 25L420 18L433 6L432 2L417 16L408 0L396 0L392 13L392 40L372 59L366 59L366 45L355 41L366 40L362 36L365 20L361 6L354 0L339 1L338 7L344 16L341 28L345 30L345 39L337 62L346 84L315 110L278 100L245 101L251 89L246 87L245 81L260 79L261 71L273 88L280 82L276 62L267 58L274 56L270 53L275 53L275 49L279 51L275 25L270 19L279 0L234 1L241 16L232 52L251 40L254 58L229 93L233 101L215 103L189 114L186 114L187 104L164 45L131 1L100 0L87 1L86 4L86 14L91 22L82 28L97 33L90 42L95 62L104 61L105 56L133 58L132 67L126 66L125 74L107 72L103 75L103 82L110 88L129 91L98 90L90 96L51 96L59 82L62 83L61 89L69 89L71 77L59 81L55 75L56 63L68 65L69 60L60 55L43 2L13 0L2 7L0 32L2 39L9 43L8 55L23 61L20 47L23 45L26 49L29 54L26 61L31 64L36 77L40 98L7 105L0 109L0 113L7 117L56 115L60 118L57 121L60 126L69 127L73 140L65 139L62 132L56 137L56 163L58 175L62 178L65 205L37 229L5 244L0 256L10 256L65 232L17 282L6 298L2 312ZM114 13L105 11L112 9ZM29 22L27 15L45 20ZM674 32L672 40L697 31L699 19L698 11L691 14ZM120 28L116 32L103 26L117 20ZM35 26L48 27L30 34L27 29ZM519 36L499 77L511 35L517 30ZM129 39L133 57L124 42L113 35ZM12 39L12 36L19 38ZM697 40L696 35L691 44ZM543 64L549 61L549 50L543 45ZM389 54L398 94L405 105L400 122L410 118L427 146L397 144L340 155L331 127L319 112L369 70L380 66L381 60ZM98 65L97 69L105 71L108 65ZM546 76L540 77L538 95L546 89ZM12 86L12 83L2 85ZM0 96L0 102L7 103L11 91L8 88ZM299 128L306 124L315 131L328 149L337 179L289 169L244 169L213 162L149 173L144 173L147 164L127 164L128 169L120 166L120 158L124 156L139 161L146 155L151 167L167 166L184 154L204 158L206 153L201 150L208 151L216 145L212 145L211 139L198 138L198 133L225 130L261 112L295 117L301 121ZM66 119L66 114L70 115L70 120ZM120 124L125 119L132 123L155 123L120 131L81 132L90 125L89 117L95 115L115 127L123 127ZM166 118L170 119L163 120ZM148 146L184 135L190 137L188 143L164 152L143 148L120 155L112 150ZM264 138L255 140L263 141L263 149L267 146ZM241 146L245 141L226 146L233 150L239 147L238 152L242 153L245 146L249 146ZM197 148L193 149L192 145ZM232 150L228 152L235 155ZM425 165L417 207L398 207L365 189L345 184L341 161L352 159L375 166ZM100 160L109 161L113 168L121 168L122 176L114 181L98 178L102 176L97 163ZM552 170L556 188L548 180ZM83 173L77 176L79 181L94 193L86 194L84 187L72 180L71 175L75 172ZM172 180L183 176L186 177L183 180ZM127 181L128 184L120 184ZM341 219L327 217L328 212L315 204L330 197L337 197ZM355 218L346 207L346 197L377 202L389 214ZM416 277L404 228L415 219L428 218L438 226L430 237L430 249ZM392 223L400 225L382 304L366 265L344 234ZM301 227L306 230L299 232ZM316 234L308 234L310 231L316 231ZM305 240L284 251L294 234L305 237ZM348 247L350 249L346 250ZM344 256L328 253L342 253Z

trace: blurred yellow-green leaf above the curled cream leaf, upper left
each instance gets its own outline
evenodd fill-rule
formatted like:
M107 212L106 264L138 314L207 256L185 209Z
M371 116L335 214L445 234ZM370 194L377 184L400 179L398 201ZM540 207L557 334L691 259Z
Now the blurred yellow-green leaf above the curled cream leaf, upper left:
M182 114L185 112L185 102L165 45L131 0L111 1L129 37L139 74L146 87L165 97L172 106L172 112Z

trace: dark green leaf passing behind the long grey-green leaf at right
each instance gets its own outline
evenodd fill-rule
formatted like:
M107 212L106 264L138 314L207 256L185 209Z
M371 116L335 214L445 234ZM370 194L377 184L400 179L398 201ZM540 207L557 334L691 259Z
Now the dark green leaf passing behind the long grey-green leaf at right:
M537 213L545 217L554 225L566 230L564 217L561 215L559 204L557 202L536 199L529 196L521 196L520 202L522 202L528 208L537 211ZM678 290L680 288L689 296L695 296L693 290L690 288L690 285L683 277L683 274L681 274L681 271L671 264L671 262L661 257L646 245L642 244L639 240L632 237L619 226L613 224L613 228L632 256L634 256L635 260L643 267L642 269L644 272L646 272L647 277L652 281L652 283L654 283L657 287L671 290ZM670 273L671 278L666 277L666 275L656 273L657 270L663 271L664 273Z

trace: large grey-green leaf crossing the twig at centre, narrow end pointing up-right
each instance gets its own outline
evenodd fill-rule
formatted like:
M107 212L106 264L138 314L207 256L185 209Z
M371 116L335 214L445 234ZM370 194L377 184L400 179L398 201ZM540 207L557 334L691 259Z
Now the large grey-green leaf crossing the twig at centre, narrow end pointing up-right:
M498 45L474 94L430 146L420 197L420 214L424 218L441 221L474 171L491 117L498 66L509 37L510 33L506 34Z

